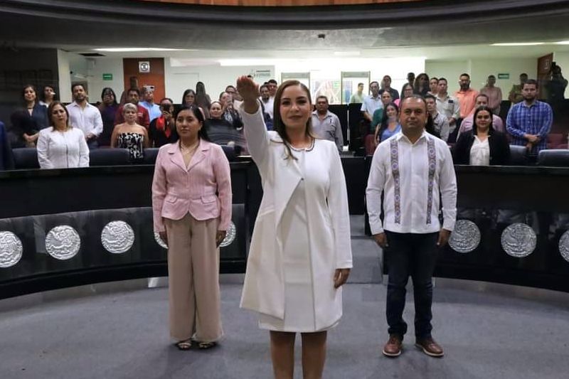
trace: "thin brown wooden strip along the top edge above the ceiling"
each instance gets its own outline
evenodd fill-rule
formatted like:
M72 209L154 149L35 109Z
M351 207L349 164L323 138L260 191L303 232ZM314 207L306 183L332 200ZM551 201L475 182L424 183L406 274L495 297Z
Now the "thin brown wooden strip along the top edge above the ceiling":
M216 6L317 6L404 3L422 0L142 0L156 3L177 3Z

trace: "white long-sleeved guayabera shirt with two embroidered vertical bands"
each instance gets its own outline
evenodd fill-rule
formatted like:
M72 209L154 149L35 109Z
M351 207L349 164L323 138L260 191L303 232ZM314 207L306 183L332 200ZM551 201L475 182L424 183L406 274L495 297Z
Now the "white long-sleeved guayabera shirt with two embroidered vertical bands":
M380 219L383 191L383 223ZM434 233L442 199L442 228L453 230L457 216L457 178L447 144L423 132L412 144L402 132L379 144L366 190L372 234Z

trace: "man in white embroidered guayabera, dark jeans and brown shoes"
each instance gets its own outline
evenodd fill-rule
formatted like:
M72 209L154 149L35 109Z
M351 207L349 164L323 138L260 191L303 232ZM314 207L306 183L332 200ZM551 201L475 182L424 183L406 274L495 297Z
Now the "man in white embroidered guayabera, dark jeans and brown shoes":
M427 124L432 122L427 114L420 95L401 102L401 132L379 144L366 190L371 233L383 249L389 275L385 307L389 339L383 347L383 354L389 357L399 356L403 348L409 277L413 278L415 298L415 346L428 356L443 356L431 334L432 273L438 250L454 228L457 179L447 144L425 132L432 127ZM438 217L441 205L442 225Z

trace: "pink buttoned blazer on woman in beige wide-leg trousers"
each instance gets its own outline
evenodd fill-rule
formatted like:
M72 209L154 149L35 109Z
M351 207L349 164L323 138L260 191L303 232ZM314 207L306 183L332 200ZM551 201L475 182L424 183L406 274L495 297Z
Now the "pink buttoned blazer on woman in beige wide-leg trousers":
M202 139L187 168L178 143L162 146L154 167L152 211L156 232L164 232L163 218L180 220L188 212L196 220L220 218L218 230L227 230L231 173L221 146Z

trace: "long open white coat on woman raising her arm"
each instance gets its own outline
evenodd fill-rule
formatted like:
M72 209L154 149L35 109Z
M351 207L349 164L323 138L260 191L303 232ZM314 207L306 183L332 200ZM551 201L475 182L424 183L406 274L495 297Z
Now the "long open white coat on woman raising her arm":
M241 307L285 318L285 283L279 223L302 172L277 132L267 132L259 110L241 108L249 151L260 171L263 197L249 250ZM309 254L312 262L316 329L335 324L342 315L341 288L334 289L334 272L351 268L351 240L346 180L334 142L317 139L305 161ZM317 184L326 183L326 184Z

